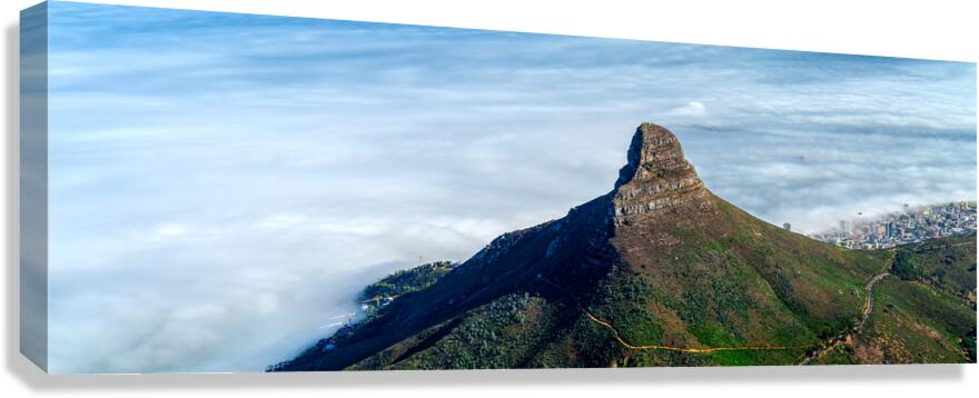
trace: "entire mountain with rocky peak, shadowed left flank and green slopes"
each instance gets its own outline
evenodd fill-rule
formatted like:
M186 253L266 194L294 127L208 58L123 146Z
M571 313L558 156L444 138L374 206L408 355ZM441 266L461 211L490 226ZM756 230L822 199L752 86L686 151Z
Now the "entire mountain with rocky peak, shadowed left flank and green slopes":
M975 361L975 243L847 250L785 231L642 123L611 192L269 370ZM891 276L896 259L919 272Z

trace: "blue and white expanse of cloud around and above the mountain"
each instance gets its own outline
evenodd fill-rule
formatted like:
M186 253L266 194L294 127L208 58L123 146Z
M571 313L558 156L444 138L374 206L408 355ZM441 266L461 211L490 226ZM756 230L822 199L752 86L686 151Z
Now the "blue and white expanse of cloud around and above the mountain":
M803 232L975 200L976 66L53 2L50 367L247 371L612 188L635 127Z

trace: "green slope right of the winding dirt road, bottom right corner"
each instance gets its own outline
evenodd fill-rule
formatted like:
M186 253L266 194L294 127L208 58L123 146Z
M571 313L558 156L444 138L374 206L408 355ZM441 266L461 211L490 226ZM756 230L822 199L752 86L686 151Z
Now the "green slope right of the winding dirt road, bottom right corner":
M815 364L976 362L976 233L896 251L864 329Z

